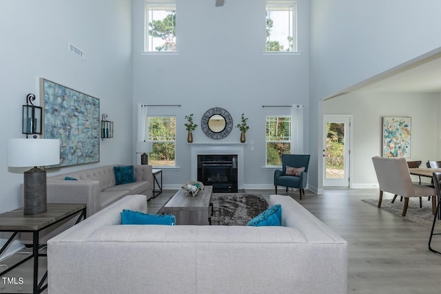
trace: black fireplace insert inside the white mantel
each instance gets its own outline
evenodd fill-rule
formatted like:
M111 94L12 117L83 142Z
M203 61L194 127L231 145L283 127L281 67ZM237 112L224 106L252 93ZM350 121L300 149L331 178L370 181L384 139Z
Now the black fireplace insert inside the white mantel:
M237 192L237 154L198 154L198 181L216 193Z

